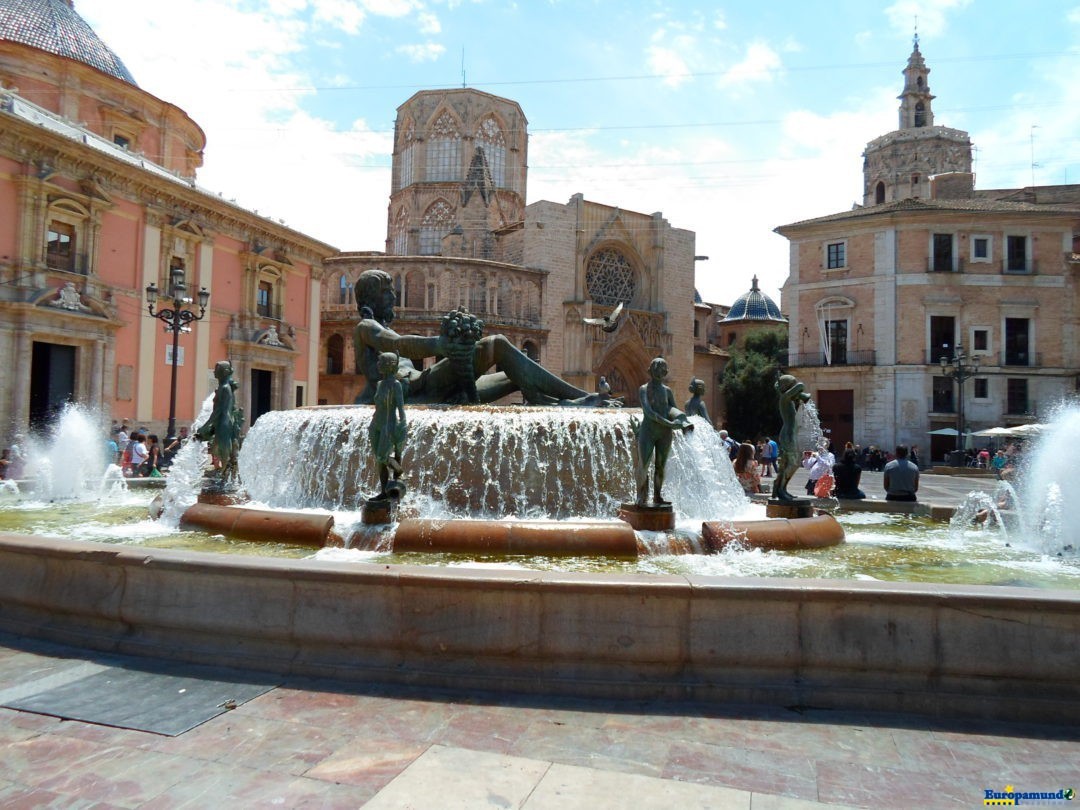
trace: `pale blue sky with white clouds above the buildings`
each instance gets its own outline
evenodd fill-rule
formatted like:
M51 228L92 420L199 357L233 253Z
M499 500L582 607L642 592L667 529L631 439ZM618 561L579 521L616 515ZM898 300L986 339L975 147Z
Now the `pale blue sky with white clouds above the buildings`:
M697 233L697 286L781 301L773 229L862 200L913 35L978 188L1080 183L1080 0L76 0L139 86L206 133L199 185L381 251L396 108L467 85L529 122L527 203Z

